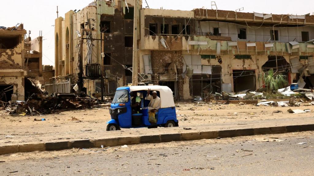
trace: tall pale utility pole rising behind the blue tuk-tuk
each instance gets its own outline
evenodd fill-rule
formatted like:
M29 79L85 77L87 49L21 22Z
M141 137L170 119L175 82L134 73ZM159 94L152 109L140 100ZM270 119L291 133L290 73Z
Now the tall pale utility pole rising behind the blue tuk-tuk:
M132 66L132 85L138 85L138 59L137 59L137 0L134 1L133 18L133 66Z

